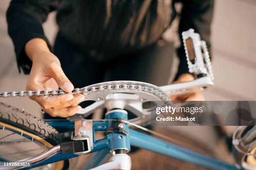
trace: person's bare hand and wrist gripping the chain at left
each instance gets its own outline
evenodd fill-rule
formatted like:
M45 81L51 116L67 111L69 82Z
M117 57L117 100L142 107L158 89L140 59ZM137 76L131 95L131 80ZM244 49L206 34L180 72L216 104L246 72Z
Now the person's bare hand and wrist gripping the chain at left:
M28 78L26 90L58 90L71 92L74 86L61 69L59 59L50 52L46 42L36 38L25 46L28 57L33 65ZM84 95L63 94L53 96L33 96L44 111L53 117L68 117L82 108L77 104L84 100Z

